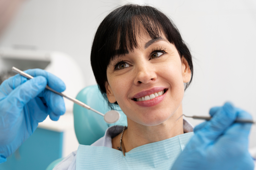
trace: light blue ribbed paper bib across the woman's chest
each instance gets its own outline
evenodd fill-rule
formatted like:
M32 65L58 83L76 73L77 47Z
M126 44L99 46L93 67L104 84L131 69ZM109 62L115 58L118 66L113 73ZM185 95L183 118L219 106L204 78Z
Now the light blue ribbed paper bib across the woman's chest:
M184 133L162 141L148 143L125 153L108 148L79 145L76 170L88 169L171 169L194 132Z

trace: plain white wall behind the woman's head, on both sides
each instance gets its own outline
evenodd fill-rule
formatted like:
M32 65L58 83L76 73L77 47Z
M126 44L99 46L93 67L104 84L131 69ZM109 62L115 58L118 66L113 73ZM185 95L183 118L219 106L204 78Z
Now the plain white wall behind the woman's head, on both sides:
M67 53L82 68L86 85L95 84L90 67L93 36L112 8L128 2L132 1L26 1L2 36L0 46L33 45L40 50ZM207 115L210 107L232 101L256 119L254 0L137 2L153 4L168 14L191 49L195 72L185 92L184 114ZM253 126L250 147L255 146L256 127Z

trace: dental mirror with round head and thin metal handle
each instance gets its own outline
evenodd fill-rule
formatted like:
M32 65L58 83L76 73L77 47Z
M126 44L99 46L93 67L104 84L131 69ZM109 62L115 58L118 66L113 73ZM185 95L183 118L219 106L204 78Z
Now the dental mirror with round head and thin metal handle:
M14 72L16 72L16 73L18 73L18 74L24 76L24 77L27 78L27 79L33 79L33 78L34 78L34 77L32 77L31 75L29 75L29 74L27 74L27 73L25 73L25 72L23 72L23 71L17 69L16 67L12 67L12 70L13 70ZM119 114L119 112L117 112L117 111L111 110L111 111L107 112L107 113L104 115L104 114L102 114L102 113L96 111L95 109L91 108L90 106L84 104L83 102L81 102L81 101L79 101L79 100L77 100L77 99L75 99L75 98L73 98L73 97L71 97L71 96L69 96L69 95L65 95L65 94L63 94L63 93L60 93L60 92L58 92L58 91L55 91L54 89L52 89L52 88L49 87L48 85L46 85L45 88L48 89L48 90L50 90L50 91L52 91L52 92L55 92L56 94L58 94L58 95L60 95L60 96L62 96L62 97L65 97L65 98L71 100L72 102L74 102L74 103L76 103L76 104L78 104L78 105L80 105L80 106L82 106L82 107L84 107L84 108L87 108L87 109L89 109L89 110L91 110L91 111L94 111L95 113L97 113L97 114L103 116L103 117L104 117L104 121L105 121L106 123L109 123L109 124L115 123L115 122L117 122L117 121L120 119L120 114Z

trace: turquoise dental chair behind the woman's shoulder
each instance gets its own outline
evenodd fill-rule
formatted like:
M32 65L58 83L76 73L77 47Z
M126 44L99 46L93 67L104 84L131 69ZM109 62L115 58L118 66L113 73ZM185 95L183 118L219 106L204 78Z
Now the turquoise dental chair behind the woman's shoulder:
M103 114L110 111L108 102L101 95L97 85L85 87L79 92L79 94L76 96L76 99ZM81 145L91 145L96 140L103 137L106 129L108 129L110 126L127 126L127 117L122 112L120 107L115 106L114 109L120 113L121 117L116 123L108 124L104 121L103 116L100 116L91 110L74 104L74 126L78 142ZM52 170L63 159L64 158L59 158L55 160L46 168L46 170Z

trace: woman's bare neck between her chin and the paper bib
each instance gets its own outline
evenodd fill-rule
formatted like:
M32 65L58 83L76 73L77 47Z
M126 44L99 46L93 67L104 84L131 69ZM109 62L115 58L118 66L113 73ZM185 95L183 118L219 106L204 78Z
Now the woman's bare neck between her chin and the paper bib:
M128 129L125 130L122 137L125 152L129 152L133 148L147 143L153 143L183 134L183 119L181 118L176 121L181 115L182 105L180 105L169 119L155 126L141 125L127 118Z

